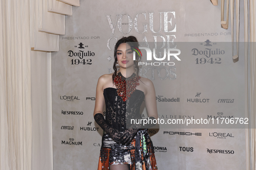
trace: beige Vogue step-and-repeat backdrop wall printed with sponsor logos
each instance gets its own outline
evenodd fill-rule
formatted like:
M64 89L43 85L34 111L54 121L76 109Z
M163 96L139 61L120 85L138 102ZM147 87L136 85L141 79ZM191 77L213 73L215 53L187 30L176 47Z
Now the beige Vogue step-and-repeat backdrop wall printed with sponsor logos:
M160 62L147 61L141 50L139 76L152 80L162 121L149 129L159 170L246 168L244 58L232 60L231 31L220 26L220 5L210 0L80 4L66 16L60 50L52 53L55 170L97 169L103 133L93 117L97 80L113 72L114 45L130 35L141 47L156 48L157 57L166 48L181 51L180 61L166 56ZM141 114L147 117L145 104Z

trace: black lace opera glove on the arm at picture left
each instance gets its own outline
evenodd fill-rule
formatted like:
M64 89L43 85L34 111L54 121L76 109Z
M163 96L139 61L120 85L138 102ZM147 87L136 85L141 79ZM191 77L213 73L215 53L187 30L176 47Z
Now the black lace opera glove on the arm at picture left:
M123 133L118 131L117 129L111 127L108 125L106 120L104 119L103 114L97 113L94 115L94 120L100 125L100 127L106 132L108 135L110 135L110 138L112 138L117 143L123 143Z

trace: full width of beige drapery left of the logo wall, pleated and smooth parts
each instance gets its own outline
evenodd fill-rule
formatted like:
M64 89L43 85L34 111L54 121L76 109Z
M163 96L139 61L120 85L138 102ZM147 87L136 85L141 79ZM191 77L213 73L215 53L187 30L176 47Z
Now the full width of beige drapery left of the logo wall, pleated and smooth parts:
M29 6L0 1L0 170L53 169L51 53L31 51Z

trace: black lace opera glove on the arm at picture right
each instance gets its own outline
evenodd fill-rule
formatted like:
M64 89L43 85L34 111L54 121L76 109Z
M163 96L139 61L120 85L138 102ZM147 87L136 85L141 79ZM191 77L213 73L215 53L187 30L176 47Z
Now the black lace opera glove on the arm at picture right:
M135 126L133 126L135 129L126 129L123 132L124 136L120 142L122 144L129 145L139 129L148 129L148 128L155 126L157 124L157 123L153 123L153 120L155 120L155 119L156 119L155 117L151 116L148 118L149 121L147 124L145 124L145 125L136 124Z

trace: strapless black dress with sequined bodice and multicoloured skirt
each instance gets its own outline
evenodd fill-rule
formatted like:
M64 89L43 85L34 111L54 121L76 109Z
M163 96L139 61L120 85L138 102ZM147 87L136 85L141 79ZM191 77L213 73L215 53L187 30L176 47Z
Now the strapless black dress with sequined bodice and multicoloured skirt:
M136 90L123 101L116 88L104 89L106 104L105 120L113 128L123 132L126 118L139 118L140 106L145 98L143 91ZM157 170L153 144L148 129L139 129L129 145L113 141L103 133L98 170L109 170L113 164L130 164L131 170Z

